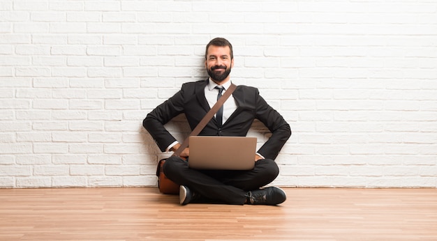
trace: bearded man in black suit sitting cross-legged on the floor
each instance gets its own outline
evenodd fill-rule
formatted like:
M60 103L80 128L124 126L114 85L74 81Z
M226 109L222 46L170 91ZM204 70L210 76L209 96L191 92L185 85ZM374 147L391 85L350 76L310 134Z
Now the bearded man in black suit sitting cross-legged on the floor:
M143 121L143 126L161 151L175 151L181 146L163 125L184 113L193 130L215 104L219 88L224 88L223 93L229 88L229 74L233 66L230 42L224 38L211 40L205 50L205 67L209 79L183 84L178 93L156 107ZM223 105L223 119L212 118L200 135L246 136L255 118L269 128L272 136L254 153L255 167L252 170L188 168L188 163L181 157L189 156L189 148L185 148L180 157L172 156L166 160L163 172L167 178L181 185L179 201L182 205L202 201L277 205L286 200L285 192L278 187L260 187L272 182L279 174L274 159L291 135L290 125L261 98L257 88L237 86Z

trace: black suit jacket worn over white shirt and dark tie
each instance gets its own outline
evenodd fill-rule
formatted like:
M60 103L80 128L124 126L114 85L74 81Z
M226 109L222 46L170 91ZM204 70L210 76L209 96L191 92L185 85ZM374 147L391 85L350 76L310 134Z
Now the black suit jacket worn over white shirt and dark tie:
M165 151L171 143L176 141L175 137L165 130L163 126L165 123L184 113L193 130L207 114L210 109L205 98L207 84L208 80L183 84L181 90L172 98L147 114L142 125L154 138L161 151ZM232 95L237 102L237 110L223 123L221 128L218 128L216 119L212 118L199 135L244 137L256 118L272 132L272 137L264 143L258 153L267 159L274 160L290 137L290 125L265 102L257 88L237 86Z

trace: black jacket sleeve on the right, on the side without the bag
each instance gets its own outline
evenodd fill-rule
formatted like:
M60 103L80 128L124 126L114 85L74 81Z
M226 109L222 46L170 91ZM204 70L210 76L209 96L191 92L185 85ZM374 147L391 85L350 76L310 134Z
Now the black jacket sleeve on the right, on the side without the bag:
M262 156L274 160L279 151L291 136L290 125L284 120L281 114L273 109L256 91L256 113L255 118L260 120L272 132L272 136L258 150Z

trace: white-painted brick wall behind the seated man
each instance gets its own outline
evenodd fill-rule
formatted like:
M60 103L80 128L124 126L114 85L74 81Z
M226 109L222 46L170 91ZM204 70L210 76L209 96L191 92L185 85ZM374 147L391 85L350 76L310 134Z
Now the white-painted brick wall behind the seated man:
M156 185L142 119L216 36L292 127L275 185L437 187L431 0L2 0L0 187Z

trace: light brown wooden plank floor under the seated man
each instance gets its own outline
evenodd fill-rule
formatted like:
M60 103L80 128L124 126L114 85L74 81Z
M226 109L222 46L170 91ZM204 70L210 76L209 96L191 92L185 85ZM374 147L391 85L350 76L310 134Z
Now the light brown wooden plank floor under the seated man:
M437 189L285 189L279 206L156 188L0 189L0 240L437 240Z

